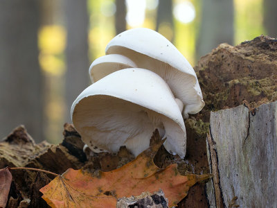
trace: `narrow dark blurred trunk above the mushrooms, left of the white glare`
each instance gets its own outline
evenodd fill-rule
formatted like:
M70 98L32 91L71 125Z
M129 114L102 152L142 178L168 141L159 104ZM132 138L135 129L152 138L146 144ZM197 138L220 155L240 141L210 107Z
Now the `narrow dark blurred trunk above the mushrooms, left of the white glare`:
M126 31L125 0L116 0L116 35Z

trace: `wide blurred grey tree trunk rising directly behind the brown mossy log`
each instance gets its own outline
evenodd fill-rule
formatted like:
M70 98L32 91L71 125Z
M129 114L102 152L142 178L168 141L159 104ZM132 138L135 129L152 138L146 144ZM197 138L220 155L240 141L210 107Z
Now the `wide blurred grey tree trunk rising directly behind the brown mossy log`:
M231 0L203 0L201 26L198 35L196 56L209 53L218 44L233 44L234 8Z

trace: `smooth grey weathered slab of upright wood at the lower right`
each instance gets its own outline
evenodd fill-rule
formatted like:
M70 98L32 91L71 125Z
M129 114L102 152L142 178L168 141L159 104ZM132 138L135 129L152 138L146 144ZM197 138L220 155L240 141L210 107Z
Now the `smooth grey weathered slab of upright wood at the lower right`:
M245 105L212 112L211 137L224 207L277 207L277 101L255 114ZM212 164L213 157L211 152Z

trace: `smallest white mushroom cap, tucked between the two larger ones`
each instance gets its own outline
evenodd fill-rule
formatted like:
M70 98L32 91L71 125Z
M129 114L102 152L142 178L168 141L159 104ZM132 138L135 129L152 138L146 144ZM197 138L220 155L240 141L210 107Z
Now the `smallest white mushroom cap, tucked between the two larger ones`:
M114 71L127 68L135 68L136 64L124 55L104 55L94 60L89 67L91 82L95 83Z

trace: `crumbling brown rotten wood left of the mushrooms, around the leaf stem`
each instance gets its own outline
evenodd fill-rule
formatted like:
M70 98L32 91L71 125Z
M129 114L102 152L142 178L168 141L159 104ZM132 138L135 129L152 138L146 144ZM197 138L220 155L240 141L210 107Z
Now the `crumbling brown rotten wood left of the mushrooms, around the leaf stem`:
M84 158L81 156L78 158L75 155L78 155L76 152L82 151L82 148L78 151L78 146L69 145L74 134L74 144L82 143L80 135L72 125L66 125L63 144L69 148L62 144L51 145L45 141L35 144L24 126L21 125L0 142L0 168L6 166L41 168L58 174L64 173L67 168L81 168L84 166L82 162ZM85 157L85 155L82 156ZM48 184L53 176L25 170L11 170L11 172L13 180L8 197L8 207L19 207L19 205L24 207L26 205L24 198L30 199L30 205L44 207L44 200L38 198L39 189Z

